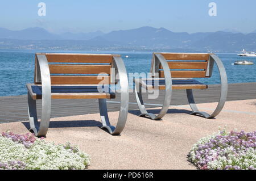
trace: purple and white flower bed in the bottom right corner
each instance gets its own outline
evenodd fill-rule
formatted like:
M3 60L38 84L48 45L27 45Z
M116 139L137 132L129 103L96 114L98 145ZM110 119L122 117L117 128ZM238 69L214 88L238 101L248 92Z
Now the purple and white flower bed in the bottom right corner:
M199 169L256 169L256 131L221 131L201 138L188 154Z

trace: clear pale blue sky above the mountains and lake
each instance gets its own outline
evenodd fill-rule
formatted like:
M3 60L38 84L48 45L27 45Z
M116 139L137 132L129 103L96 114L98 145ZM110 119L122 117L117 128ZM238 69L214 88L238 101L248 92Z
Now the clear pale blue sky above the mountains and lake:
M38 16L38 3L46 3L46 16ZM216 2L217 16L209 16ZM255 0L8 0L0 2L0 27L22 30L43 27L60 33L128 30L142 26L174 32L256 30Z

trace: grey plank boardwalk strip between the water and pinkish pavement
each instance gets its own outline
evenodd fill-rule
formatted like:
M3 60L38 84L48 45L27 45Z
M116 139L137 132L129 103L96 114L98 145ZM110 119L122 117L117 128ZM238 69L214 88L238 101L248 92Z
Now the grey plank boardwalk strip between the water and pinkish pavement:
M210 85L207 90L196 90L195 100L197 103L217 102L220 94L219 85ZM160 107L163 103L164 92L160 91L158 99L147 99L147 94L143 96L148 108ZM256 82L234 83L229 85L228 101L256 99ZM108 102L109 111L119 110L119 95ZM130 93L129 110L137 110L134 92ZM38 115L40 117L40 103L38 101ZM174 90L172 95L172 105L188 104L185 90ZM88 100L52 100L51 117L84 115L88 113L98 113L98 102L96 99ZM0 97L0 123L24 121L28 119L27 96L6 96Z

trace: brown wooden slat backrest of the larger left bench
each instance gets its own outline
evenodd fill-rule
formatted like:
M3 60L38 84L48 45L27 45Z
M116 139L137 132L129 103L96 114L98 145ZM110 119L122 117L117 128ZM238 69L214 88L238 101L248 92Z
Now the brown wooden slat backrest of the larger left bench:
M52 85L110 84L112 54L36 53L35 83L40 84L37 55L45 55Z

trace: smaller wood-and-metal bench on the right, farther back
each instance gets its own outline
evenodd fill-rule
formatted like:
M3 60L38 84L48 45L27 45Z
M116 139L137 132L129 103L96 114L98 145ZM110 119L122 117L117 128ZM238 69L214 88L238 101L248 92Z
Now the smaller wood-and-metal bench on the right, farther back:
M210 115L199 111L193 99L193 89L208 89L204 83L192 78L207 78L212 76L214 62L217 64L221 78L221 94L216 110ZM220 113L226 101L228 92L228 79L220 58L209 53L153 53L151 62L152 78L137 78L135 81L135 94L141 115L153 120L160 120L168 111L171 103L172 90L187 91L188 103L192 108L192 115L201 115L213 118ZM148 113L142 99L144 90L165 90L163 107L158 115Z

